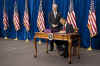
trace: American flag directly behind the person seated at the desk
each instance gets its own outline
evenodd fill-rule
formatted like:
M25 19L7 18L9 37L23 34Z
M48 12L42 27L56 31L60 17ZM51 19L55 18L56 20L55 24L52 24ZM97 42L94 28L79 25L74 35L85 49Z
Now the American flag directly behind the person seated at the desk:
M76 16L73 9L73 0L70 0L70 7L67 15L67 23L72 24L74 29L77 29Z

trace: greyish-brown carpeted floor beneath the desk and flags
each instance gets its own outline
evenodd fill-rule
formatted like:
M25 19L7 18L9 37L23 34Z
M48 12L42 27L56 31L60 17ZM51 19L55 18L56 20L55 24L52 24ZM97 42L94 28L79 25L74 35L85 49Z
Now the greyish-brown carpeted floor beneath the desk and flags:
M33 42L0 39L0 66L67 66L67 60L56 55L56 51L45 53L45 44L38 45L38 57L33 57ZM80 49L81 59L72 57L71 66L100 66L100 50L88 52Z

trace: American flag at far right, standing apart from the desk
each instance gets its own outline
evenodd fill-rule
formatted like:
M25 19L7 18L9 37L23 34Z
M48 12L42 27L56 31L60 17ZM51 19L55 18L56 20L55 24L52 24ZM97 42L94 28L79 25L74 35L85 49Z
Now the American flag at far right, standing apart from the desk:
M95 14L95 9L94 9L94 1L91 1L91 9L89 10L88 29L90 31L90 36L91 37L94 37L97 34L96 14Z

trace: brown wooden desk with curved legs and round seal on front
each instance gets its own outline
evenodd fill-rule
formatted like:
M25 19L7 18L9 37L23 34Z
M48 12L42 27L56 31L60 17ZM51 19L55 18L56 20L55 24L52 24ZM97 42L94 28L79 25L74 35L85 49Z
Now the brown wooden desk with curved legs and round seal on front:
M36 43L36 38L43 38L46 39L46 52L48 53L48 36L50 33L44 33L44 32L36 32L34 36L34 57L37 57L37 43ZM68 63L71 64L72 62L72 55L71 55L71 49L72 49L72 40L78 38L78 50L77 50L77 55L78 58L80 58L80 36L78 33L70 33L70 34L60 34L60 33L53 33L53 40L65 40L68 41Z

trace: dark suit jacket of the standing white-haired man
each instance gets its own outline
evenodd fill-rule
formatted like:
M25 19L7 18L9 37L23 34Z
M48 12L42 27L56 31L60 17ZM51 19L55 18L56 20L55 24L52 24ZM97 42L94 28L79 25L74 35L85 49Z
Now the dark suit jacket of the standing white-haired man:
M48 15L48 23L50 24L50 29L52 32L59 32L62 29L62 24L60 23L61 15L57 12L56 18L54 17L53 11ZM57 27L52 27L52 24L58 25Z

